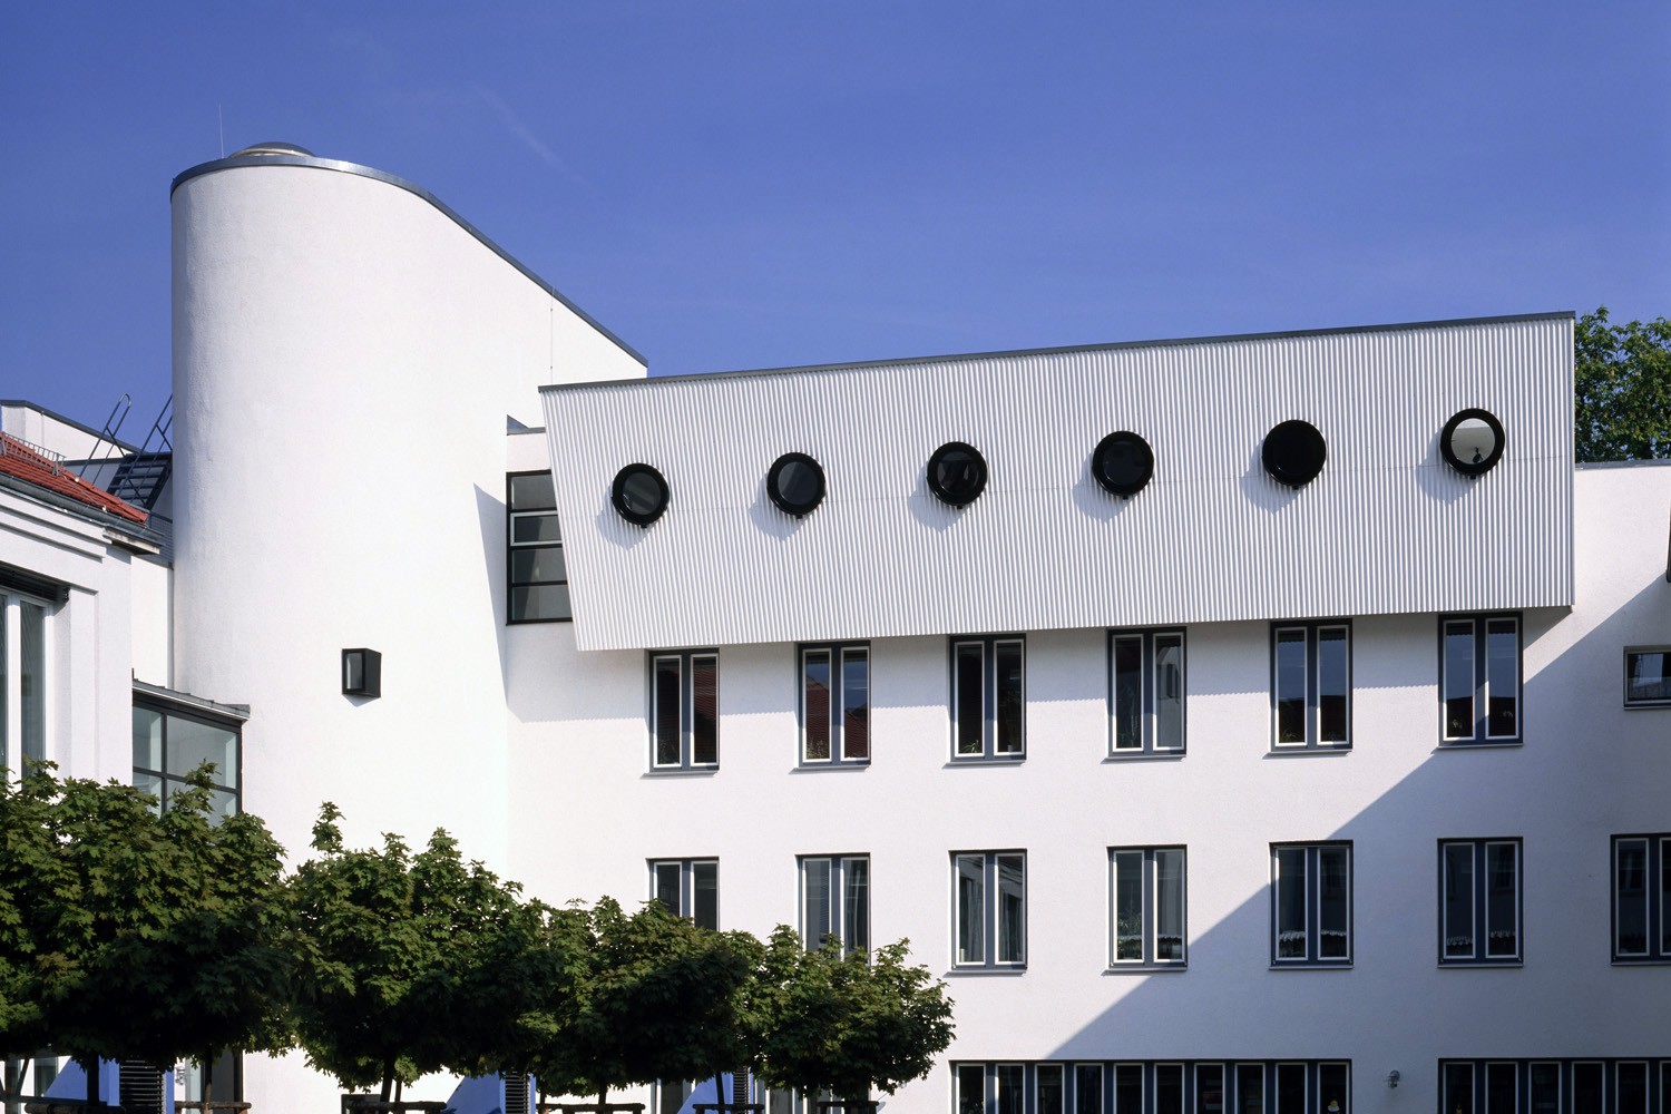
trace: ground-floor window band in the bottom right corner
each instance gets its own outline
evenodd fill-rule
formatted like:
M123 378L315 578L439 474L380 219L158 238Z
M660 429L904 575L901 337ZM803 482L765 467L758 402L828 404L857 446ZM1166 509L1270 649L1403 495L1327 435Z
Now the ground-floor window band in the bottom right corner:
M1439 1114L1661 1111L1671 1111L1671 1059L1439 1062Z

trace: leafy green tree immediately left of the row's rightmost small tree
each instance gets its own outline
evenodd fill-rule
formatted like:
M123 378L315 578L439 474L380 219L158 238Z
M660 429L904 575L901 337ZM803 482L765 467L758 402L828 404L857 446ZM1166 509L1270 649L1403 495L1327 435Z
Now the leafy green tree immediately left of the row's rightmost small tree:
M707 1079L747 1061L739 1017L759 942L675 917L660 902L627 915L605 897L558 910L553 939L573 964L550 1039L528 1069L546 1094L595 1094L658 1079Z

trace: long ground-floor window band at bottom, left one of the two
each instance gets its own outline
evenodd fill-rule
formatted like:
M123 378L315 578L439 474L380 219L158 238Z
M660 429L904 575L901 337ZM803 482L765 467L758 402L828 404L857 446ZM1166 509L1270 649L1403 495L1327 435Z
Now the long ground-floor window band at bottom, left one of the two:
M1352 1062L964 1062L952 1091L954 1114L1350 1114Z

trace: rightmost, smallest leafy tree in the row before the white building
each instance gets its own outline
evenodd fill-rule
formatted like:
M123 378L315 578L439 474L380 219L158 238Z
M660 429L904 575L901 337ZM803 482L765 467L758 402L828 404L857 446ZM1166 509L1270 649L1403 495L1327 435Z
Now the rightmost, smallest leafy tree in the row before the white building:
M772 934L764 977L760 1076L802 1094L862 1101L921 1079L952 1037L946 984L907 964L909 942L842 954L837 940L804 950L794 930Z

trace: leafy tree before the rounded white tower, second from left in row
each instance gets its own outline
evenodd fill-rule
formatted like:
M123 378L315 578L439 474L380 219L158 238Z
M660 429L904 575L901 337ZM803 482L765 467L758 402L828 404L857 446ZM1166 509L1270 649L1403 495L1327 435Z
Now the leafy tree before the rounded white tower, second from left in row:
M341 815L323 807L319 855L291 880L307 1062L344 1089L381 1086L384 1101L426 1072L496 1069L543 990L526 955L538 914L446 832L416 855L396 835L349 850Z

